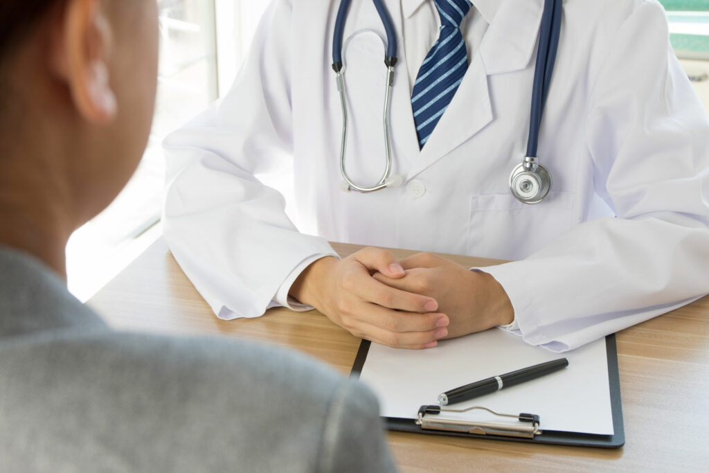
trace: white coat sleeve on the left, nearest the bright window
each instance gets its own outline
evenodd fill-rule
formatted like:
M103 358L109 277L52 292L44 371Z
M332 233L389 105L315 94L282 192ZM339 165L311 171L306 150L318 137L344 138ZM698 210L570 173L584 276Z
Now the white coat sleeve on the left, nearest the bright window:
M273 1L228 95L164 140L164 235L220 318L262 315L294 268L336 255L255 177L291 165L291 13Z

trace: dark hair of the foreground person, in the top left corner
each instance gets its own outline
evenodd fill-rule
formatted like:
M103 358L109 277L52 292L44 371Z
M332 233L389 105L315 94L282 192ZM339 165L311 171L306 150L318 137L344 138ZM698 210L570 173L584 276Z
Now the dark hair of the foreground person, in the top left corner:
M52 6L60 3L62 0L1 0L0 62Z

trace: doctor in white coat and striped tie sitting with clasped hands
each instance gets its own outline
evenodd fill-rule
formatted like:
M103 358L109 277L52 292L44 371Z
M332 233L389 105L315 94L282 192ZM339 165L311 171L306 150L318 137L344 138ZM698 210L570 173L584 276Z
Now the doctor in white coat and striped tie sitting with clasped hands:
M538 136L552 183L537 204L510 192L528 156L544 3L384 1L398 40L387 125L401 185L360 193L342 186L338 159L339 2L272 1L229 94L164 143L165 236L213 311L314 306L354 335L409 348L500 325L564 351L707 294L709 121L657 1L564 2ZM386 163L386 33L374 2L352 1L344 167L367 186ZM420 111L415 98L438 78L448 103ZM278 190L264 184L273 177ZM328 240L373 247L340 260ZM470 271L375 247L515 262Z

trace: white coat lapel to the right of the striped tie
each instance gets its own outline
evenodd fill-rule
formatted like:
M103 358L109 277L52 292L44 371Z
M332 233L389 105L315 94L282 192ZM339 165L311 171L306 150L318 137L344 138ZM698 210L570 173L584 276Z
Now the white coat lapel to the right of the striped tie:
M493 120L488 76L515 72L529 65L537 43L543 1L504 0L498 6L463 82L418 160L413 162L407 179L445 157Z

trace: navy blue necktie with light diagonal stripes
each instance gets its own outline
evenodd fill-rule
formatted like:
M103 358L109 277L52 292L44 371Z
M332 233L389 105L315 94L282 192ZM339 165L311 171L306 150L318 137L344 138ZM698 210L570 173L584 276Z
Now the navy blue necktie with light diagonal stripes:
M411 94L418 146L423 148L468 69L468 53L460 23L469 0L433 0L441 18L438 40L426 55Z

